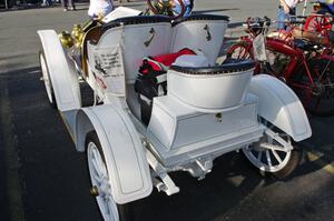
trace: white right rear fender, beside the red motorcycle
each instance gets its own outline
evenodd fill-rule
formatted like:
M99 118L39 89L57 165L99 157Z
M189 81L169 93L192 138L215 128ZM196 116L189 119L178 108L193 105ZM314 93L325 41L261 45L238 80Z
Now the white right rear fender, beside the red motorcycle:
M252 78L249 92L258 97L258 115L289 134L295 141L312 135L304 107L284 82L267 74Z

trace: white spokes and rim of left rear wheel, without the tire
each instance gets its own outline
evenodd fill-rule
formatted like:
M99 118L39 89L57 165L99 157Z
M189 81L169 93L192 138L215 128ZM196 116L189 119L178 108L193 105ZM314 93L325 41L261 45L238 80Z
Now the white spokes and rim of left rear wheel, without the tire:
M106 221L118 221L117 204L111 195L108 170L100 152L99 143L95 140L87 142L87 160L91 184L96 191L96 200Z

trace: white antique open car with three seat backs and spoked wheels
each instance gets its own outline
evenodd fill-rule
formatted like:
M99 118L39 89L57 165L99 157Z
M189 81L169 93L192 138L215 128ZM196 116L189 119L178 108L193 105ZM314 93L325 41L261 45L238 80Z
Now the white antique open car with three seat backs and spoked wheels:
M263 172L289 174L298 163L295 142L312 134L307 117L283 82L253 77L252 61L216 66L228 18L134 14L119 8L79 37L38 31L49 101L76 149L87 153L104 219L125 220L125 204L148 197L153 187L179 192L169 172L204 179L213 161L230 151L242 150ZM143 58L184 48L196 53L140 84ZM94 91L90 107L82 107L82 83Z

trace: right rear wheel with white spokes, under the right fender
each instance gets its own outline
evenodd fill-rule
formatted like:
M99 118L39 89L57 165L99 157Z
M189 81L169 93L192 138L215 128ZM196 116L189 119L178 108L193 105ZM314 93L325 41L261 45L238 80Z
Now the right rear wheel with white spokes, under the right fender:
M263 172L277 178L285 178L292 173L299 162L299 151L292 145L292 139L278 129L268 127L273 133L264 133L256 143L243 149L246 158Z

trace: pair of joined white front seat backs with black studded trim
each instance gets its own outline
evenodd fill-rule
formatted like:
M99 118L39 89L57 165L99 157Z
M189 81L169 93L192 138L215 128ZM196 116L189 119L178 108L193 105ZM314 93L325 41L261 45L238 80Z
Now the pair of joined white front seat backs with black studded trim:
M104 24L98 47L124 43L126 80L134 83L143 58L147 56L189 48L203 51L214 64L227 23L228 17L212 14L190 16L174 23L163 16L126 17Z

